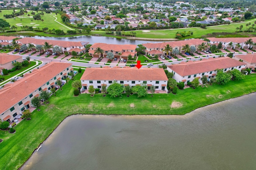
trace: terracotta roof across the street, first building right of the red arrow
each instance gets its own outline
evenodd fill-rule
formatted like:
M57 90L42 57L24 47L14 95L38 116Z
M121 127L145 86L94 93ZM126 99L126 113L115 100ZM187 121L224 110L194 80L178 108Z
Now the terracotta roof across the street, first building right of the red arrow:
M183 40L183 41L170 41L170 42L164 42L164 43L146 43L142 44L144 47L149 48L149 49L156 49L156 48L161 48L164 49L164 47L169 44L171 47L182 47L183 45L199 45L202 43L207 43L204 40L201 39L190 39L190 40Z

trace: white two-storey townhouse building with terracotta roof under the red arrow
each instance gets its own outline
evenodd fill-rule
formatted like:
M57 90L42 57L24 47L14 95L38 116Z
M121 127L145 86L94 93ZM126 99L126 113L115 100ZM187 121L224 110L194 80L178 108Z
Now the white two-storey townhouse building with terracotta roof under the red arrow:
M152 85L157 90L167 92L168 78L163 68L131 68L125 66L124 68L115 66L105 66L103 68L86 68L84 74L80 78L82 88L87 90L90 85L94 88L101 89L102 86L110 86L114 81L123 84L124 86L130 85L139 86L146 84L148 90Z

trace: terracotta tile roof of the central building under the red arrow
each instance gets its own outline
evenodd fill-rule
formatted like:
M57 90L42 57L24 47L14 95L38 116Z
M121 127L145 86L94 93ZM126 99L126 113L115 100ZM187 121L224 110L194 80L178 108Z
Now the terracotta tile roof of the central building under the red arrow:
M164 80L162 68L86 68L80 80Z

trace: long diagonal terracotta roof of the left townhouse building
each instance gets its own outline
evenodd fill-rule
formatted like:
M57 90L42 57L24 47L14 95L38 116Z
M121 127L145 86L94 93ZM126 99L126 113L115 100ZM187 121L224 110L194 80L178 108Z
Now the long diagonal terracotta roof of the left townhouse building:
M10 109L71 65L50 62L39 69L34 69L31 73L26 73L20 80L4 86L0 90L0 113Z

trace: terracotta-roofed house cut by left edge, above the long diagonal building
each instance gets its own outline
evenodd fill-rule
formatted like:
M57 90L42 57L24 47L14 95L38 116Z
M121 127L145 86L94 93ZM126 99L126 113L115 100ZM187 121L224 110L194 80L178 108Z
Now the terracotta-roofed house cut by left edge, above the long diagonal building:
M10 70L14 67L12 64L22 61L23 59L19 55L0 54L0 69Z

